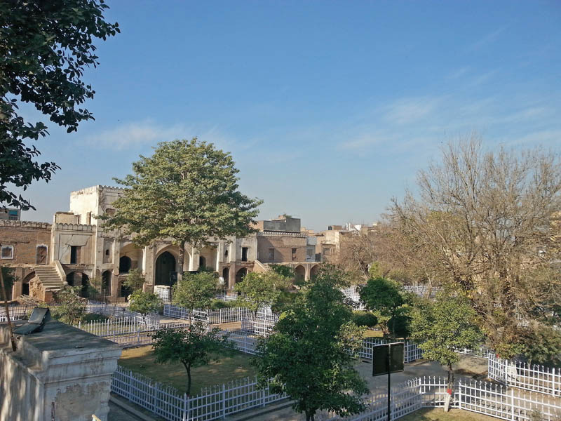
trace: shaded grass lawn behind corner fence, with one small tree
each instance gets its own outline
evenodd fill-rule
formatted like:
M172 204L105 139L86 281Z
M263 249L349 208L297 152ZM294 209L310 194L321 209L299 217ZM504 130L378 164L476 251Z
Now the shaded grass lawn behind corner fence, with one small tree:
M236 351L219 358L218 362L211 361L207 366L191 368L192 396L200 394L203 387L222 385L230 380L255 375L255 370L250 366L251 356L248 354ZM123 349L119 366L173 386L180 392L187 392L187 371L183 364L158 364L154 359L151 346Z

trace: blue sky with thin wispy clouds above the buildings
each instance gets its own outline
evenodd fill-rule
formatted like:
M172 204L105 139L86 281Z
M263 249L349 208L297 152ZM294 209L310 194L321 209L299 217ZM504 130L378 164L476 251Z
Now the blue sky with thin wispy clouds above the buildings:
M192 138L230 151L259 218L372 222L443 142L561 145L559 1L108 0L121 34L86 72L95 115L36 142L62 169L27 190L50 222L69 192ZM34 113L25 109L29 116Z

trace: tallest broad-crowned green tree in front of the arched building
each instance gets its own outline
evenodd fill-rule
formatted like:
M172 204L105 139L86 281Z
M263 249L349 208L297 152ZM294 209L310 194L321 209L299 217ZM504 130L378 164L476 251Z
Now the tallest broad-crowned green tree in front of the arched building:
M208 243L210 237L246 236L261 201L238 191L238 170L231 154L212 143L193 140L160 142L150 157L133 163L133 175L116 182L126 192L114 201L114 216L105 215L106 229L134 234L137 246L172 239L183 267L187 244Z

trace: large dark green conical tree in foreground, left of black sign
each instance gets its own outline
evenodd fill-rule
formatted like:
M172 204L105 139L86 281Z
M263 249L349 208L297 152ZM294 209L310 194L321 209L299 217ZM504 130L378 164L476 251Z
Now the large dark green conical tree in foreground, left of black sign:
M320 269L280 316L273 333L259 342L259 357L253 360L259 381L272 378L271 390L289 394L293 408L305 413L307 421L322 409L359 413L364 408L360 396L368 392L353 368L364 328L351 322L340 276L330 265Z

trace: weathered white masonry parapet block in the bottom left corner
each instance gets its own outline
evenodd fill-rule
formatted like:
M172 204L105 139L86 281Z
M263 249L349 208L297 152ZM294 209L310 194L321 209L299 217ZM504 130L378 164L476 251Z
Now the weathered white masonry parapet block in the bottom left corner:
M0 324L0 420L107 420L119 345L58 321L16 338Z

